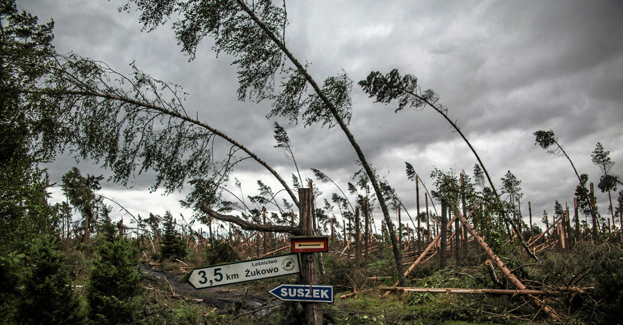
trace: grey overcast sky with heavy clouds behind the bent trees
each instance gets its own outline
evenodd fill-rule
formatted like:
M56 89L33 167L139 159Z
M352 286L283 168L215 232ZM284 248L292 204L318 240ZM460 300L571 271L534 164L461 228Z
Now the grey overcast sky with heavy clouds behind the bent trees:
M180 84L189 93L189 115L197 112L289 180L294 165L273 148L273 122L280 122L303 178L313 178L309 169L317 168L347 188L358 166L341 130L267 120L270 103L237 102L235 66L231 57L215 57L211 39L189 62L170 26L141 32L136 12L118 12L126 2L18 0L18 6L41 23L55 21L54 44L61 53L73 51L121 71L135 62L152 77ZM496 187L508 170L521 180L525 221L528 201L539 224L543 210L553 214L556 200L572 209L577 185L565 158L534 145L533 133L541 129L552 129L578 171L589 174L599 211L608 215L608 196L597 189L599 169L590 154L601 142L616 162L612 174L623 176L622 1L290 1L287 13L287 46L311 64L311 75L320 82L343 69L355 82L350 129L377 172L412 207L412 216L415 183L406 179L404 162L431 190L433 168L471 175L476 159L432 109L394 113L396 104L375 104L356 86L370 71L398 68L417 76L422 89L437 92ZM60 182L72 164L62 159L51 165L51 180ZM78 167L84 174L106 174L89 163ZM257 179L279 189L250 161L234 176L245 195L257 194ZM141 216L171 210L190 219L178 204L185 192L163 197L150 194L150 185L147 176L132 189L107 183L102 192ZM374 217L378 226L379 209Z

